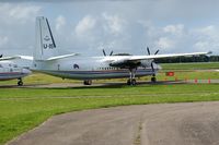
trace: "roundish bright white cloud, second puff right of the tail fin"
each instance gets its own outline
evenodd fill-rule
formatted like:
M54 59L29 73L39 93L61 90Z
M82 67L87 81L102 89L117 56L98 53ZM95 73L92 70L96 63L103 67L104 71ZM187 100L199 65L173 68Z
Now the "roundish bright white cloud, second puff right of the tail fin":
M76 26L76 34L79 37L88 36L89 34L91 34L91 31L95 27L95 24L96 20L91 15L87 15Z

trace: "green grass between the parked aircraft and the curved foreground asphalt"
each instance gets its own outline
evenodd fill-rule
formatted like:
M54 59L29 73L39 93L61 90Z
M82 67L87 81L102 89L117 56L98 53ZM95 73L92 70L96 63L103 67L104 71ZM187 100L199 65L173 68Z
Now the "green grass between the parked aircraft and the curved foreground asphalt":
M0 89L0 144L68 111L125 105L219 100L217 84Z

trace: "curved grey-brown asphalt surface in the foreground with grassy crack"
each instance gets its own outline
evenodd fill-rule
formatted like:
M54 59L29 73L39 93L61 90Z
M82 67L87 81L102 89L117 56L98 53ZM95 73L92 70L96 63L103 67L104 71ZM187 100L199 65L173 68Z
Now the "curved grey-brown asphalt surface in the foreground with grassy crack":
M10 145L218 145L219 101L127 106L50 118Z

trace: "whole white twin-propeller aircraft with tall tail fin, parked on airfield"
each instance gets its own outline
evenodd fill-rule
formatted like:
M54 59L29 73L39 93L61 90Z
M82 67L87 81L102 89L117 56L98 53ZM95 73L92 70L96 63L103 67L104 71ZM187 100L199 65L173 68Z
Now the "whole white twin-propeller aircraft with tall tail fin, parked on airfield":
M154 59L208 53L158 55L157 51L151 55L147 48L148 56L114 56L113 52L106 56L103 50L104 56L102 57L82 57L78 53L57 56L56 50L48 20L44 16L36 17L36 46L32 69L62 78L83 80L84 85L91 85L92 80L120 77L128 77L127 84L135 85L136 76L146 75L152 75L151 81L155 82L155 74L161 67L155 64Z

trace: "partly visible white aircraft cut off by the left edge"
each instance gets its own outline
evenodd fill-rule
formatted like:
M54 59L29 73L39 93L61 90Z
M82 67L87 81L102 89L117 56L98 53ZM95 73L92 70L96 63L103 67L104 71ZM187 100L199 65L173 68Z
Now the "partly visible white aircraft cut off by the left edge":
M0 81L18 78L18 85L22 86L22 78L31 74L31 71L19 67L16 63L11 61L13 59L20 59L20 57L2 57L2 55L0 56Z

